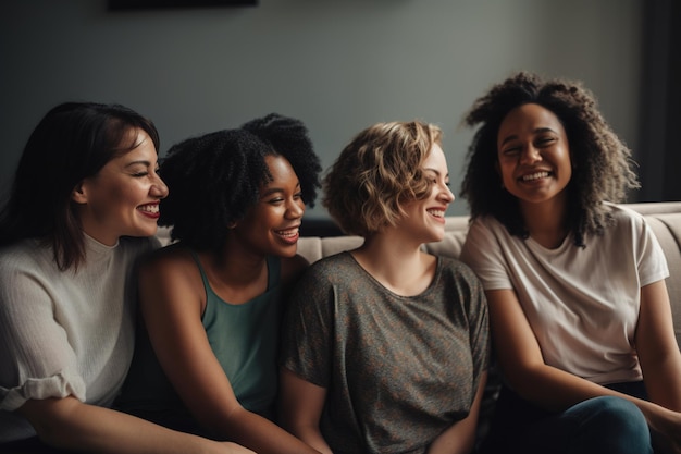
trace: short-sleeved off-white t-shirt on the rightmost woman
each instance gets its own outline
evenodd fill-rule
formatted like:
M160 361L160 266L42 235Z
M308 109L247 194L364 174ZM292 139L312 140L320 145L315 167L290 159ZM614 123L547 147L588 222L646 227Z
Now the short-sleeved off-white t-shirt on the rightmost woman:
M480 218L461 251L485 291L516 291L547 365L599 384L642 379L634 346L641 287L669 275L645 219L618 206L612 214L616 225L587 235L585 248L569 235L556 249Z

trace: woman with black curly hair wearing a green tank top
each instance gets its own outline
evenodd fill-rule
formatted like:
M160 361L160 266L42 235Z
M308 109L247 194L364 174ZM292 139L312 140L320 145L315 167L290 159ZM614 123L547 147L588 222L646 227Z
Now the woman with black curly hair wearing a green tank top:
M141 265L146 332L120 406L260 454L313 453L274 422L283 297L321 167L298 120L270 114L173 146L161 225L176 243Z

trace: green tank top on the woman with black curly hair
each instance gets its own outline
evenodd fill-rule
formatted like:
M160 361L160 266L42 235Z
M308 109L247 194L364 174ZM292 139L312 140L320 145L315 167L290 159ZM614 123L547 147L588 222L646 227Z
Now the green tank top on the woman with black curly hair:
M268 257L267 291L234 305L212 291L194 251L193 257L207 295L201 321L210 346L244 408L272 418L278 378L281 261ZM144 329L138 331L135 356L116 407L164 426L194 431L193 418L161 368Z

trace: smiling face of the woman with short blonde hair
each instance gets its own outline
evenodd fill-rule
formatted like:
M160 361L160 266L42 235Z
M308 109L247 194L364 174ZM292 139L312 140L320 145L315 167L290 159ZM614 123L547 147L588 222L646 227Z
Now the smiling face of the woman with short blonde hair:
M437 242L445 236L445 211L454 201L447 159L439 145L433 145L422 169L423 177L431 183L431 192L423 199L403 204L405 217L398 229L421 243Z

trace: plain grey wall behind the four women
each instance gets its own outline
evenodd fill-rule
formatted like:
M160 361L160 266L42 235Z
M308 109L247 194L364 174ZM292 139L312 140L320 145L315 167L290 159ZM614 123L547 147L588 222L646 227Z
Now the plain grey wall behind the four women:
M456 193L472 136L461 115L517 70L584 81L635 148L642 1L260 0L110 12L106 0L2 0L0 191L49 108L92 100L150 116L161 154L272 111L296 116L324 168L374 122L425 120L445 131ZM467 210L457 200L448 213Z

